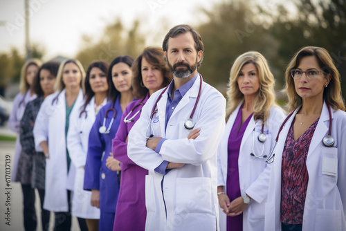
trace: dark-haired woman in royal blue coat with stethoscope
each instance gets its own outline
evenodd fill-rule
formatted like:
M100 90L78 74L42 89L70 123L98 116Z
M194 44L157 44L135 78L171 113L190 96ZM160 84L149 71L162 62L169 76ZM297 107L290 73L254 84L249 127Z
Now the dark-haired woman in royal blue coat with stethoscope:
M106 166L111 155L111 140L116 136L120 118L127 104L134 100L131 87L131 66L128 55L116 57L107 73L111 88L109 102L100 109L89 134L86 155L84 190L91 190L91 205L100 207L99 230L112 230L118 201L118 174ZM116 171L119 162L112 161Z

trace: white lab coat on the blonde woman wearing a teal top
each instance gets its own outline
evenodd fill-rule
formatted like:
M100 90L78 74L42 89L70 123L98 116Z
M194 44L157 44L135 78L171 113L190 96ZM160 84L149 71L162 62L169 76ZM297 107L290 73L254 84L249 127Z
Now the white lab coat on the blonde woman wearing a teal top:
M67 173L65 122L66 98L65 89L59 94L58 100L52 104L58 93L48 95L39 109L34 126L35 149L42 151L39 145L48 142L49 159L46 159L46 194L44 208L53 212L68 212L66 190L73 191L75 182L75 165L71 162ZM80 90L71 111L82 107L83 92ZM71 125L71 122L69 123ZM73 198L73 194L71 194ZM74 202L72 203L72 206Z

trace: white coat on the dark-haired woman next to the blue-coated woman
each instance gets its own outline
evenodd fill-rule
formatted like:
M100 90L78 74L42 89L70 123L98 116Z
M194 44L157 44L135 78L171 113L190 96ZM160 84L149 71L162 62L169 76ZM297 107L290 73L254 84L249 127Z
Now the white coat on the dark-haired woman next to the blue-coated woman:
M102 104L104 105L106 103L107 98L104 99ZM75 206L72 207L71 212L74 216L84 219L100 219L100 209L90 204L91 192L83 190L84 166L88 152L89 133L96 118L95 97L91 98L89 104L86 105L86 113L84 112L80 115L83 109L82 107L78 110L73 110L73 113L71 113L69 132L67 133L67 149L69 149L71 161L76 167L73 190L73 205Z

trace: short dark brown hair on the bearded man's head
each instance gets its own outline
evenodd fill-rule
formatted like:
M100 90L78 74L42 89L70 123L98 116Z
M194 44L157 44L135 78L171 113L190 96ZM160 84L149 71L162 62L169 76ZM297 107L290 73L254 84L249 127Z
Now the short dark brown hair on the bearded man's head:
M194 30L192 26L186 25L186 24L174 26L174 28L168 31L167 35L165 36L165 39L163 39L163 43L162 43L163 51L167 52L168 39L170 39L170 37L174 38L174 37L177 37L178 35L185 34L188 32L190 32L192 34L192 37L194 38L194 48L196 48L197 53L199 52L199 50L204 51L204 45L203 45L201 35L199 35L199 33L196 30ZM203 54L202 54L201 60L199 60L197 64L197 70L201 67L202 60L203 60Z

